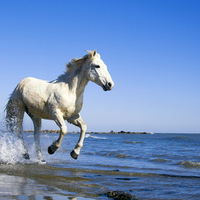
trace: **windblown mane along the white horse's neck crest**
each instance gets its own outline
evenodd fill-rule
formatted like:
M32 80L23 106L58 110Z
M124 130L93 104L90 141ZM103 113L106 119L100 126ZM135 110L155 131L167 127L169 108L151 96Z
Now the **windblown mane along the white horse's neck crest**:
M82 58L73 58L69 63L67 63L66 72L70 72L73 71L75 68L81 67L88 58L92 59L96 54L96 50L94 51L87 50L87 52L89 53L83 56Z

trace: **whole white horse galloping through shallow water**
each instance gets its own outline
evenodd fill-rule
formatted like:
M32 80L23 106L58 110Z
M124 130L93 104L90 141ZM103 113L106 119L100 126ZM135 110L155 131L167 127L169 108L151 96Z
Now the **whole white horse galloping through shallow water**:
M6 122L10 131L15 132L24 146L23 157L29 159L27 147L22 135L22 121L26 112L34 124L34 138L38 159L45 162L40 147L41 119L54 120L60 128L60 135L48 148L53 154L60 146L67 133L64 120L80 127L79 140L71 152L78 158L86 132L86 124L79 112L83 105L83 92L88 81L95 82L105 91L111 90L114 82L107 66L96 50L80 59L72 59L66 65L66 72L58 79L47 82L36 78L25 78L15 88L6 106Z

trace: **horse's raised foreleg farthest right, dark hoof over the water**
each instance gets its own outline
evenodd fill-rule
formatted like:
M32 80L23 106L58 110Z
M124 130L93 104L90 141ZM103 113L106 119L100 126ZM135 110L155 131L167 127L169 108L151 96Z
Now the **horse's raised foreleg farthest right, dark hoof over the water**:
M73 121L70 121L70 122L72 124L74 124L75 126L78 126L81 129L79 140L78 140L74 150L70 154L72 158L77 159L79 154L80 154L80 150L83 147L83 142L84 142L85 132L86 132L87 126L80 116L78 118L74 119Z

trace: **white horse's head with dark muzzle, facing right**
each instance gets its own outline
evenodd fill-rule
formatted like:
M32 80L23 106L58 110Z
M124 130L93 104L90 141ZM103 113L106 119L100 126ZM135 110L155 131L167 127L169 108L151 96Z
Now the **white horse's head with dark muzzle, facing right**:
M114 82L107 70L107 66L96 50L88 52L85 62L88 79L101 86L104 91L111 90L114 87Z

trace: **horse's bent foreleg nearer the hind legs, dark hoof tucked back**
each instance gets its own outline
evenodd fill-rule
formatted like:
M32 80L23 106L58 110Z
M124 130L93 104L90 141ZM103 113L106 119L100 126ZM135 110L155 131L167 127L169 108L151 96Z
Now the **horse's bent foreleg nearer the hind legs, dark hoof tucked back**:
M61 146L62 140L63 140L65 134L67 133L67 126L65 124L65 121L64 121L61 113L56 113L54 115L54 121L60 127L60 136L56 141L54 141L51 144L51 146L49 146L49 148L48 148L49 154L54 154L55 151Z

